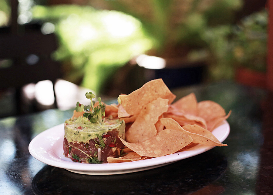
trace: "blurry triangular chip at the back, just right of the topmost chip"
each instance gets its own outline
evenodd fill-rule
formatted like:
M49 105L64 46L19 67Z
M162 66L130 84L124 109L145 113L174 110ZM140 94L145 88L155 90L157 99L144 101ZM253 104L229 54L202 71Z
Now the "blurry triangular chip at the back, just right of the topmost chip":
M183 113L197 115L197 100L194 93L184 96L172 104L174 109Z

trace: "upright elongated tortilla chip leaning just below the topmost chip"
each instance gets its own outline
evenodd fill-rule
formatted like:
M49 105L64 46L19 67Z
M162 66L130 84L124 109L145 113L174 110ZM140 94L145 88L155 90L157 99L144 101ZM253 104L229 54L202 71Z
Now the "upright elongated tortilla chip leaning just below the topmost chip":
M158 117L168 109L168 100L157 98L144 106L135 122L126 132L126 141L130 143L143 142L157 134L155 123Z

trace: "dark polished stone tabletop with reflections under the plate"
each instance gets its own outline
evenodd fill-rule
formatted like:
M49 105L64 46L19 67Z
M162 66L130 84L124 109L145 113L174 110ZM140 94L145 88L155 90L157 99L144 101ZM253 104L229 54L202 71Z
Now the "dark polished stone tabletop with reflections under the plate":
M29 142L63 123L72 110L46 110L0 119L0 194L273 194L273 95L220 82L172 90L194 92L232 114L226 147L215 147L167 166L136 173L93 176L33 158Z

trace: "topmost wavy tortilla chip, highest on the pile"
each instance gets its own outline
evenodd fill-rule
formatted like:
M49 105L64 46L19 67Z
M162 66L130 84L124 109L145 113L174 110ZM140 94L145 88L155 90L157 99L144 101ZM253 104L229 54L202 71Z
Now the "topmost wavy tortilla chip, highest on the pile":
M128 114L138 115L144 106L159 97L168 99L168 103L170 104L176 96L165 85L162 79L155 79L147 82L129 95L120 95L119 102Z

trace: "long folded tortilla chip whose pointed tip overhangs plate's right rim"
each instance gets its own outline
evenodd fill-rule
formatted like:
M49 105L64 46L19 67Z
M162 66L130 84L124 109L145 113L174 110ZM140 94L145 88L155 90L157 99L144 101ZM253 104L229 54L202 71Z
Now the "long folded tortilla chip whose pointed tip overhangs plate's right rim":
M209 132L207 129L202 128L198 125L185 125L181 127L174 119L170 118L162 118L160 122L167 129L175 129L179 130L183 133L186 133L193 139L193 143L200 143L209 146L227 146L226 144L222 144L217 140L217 138Z

